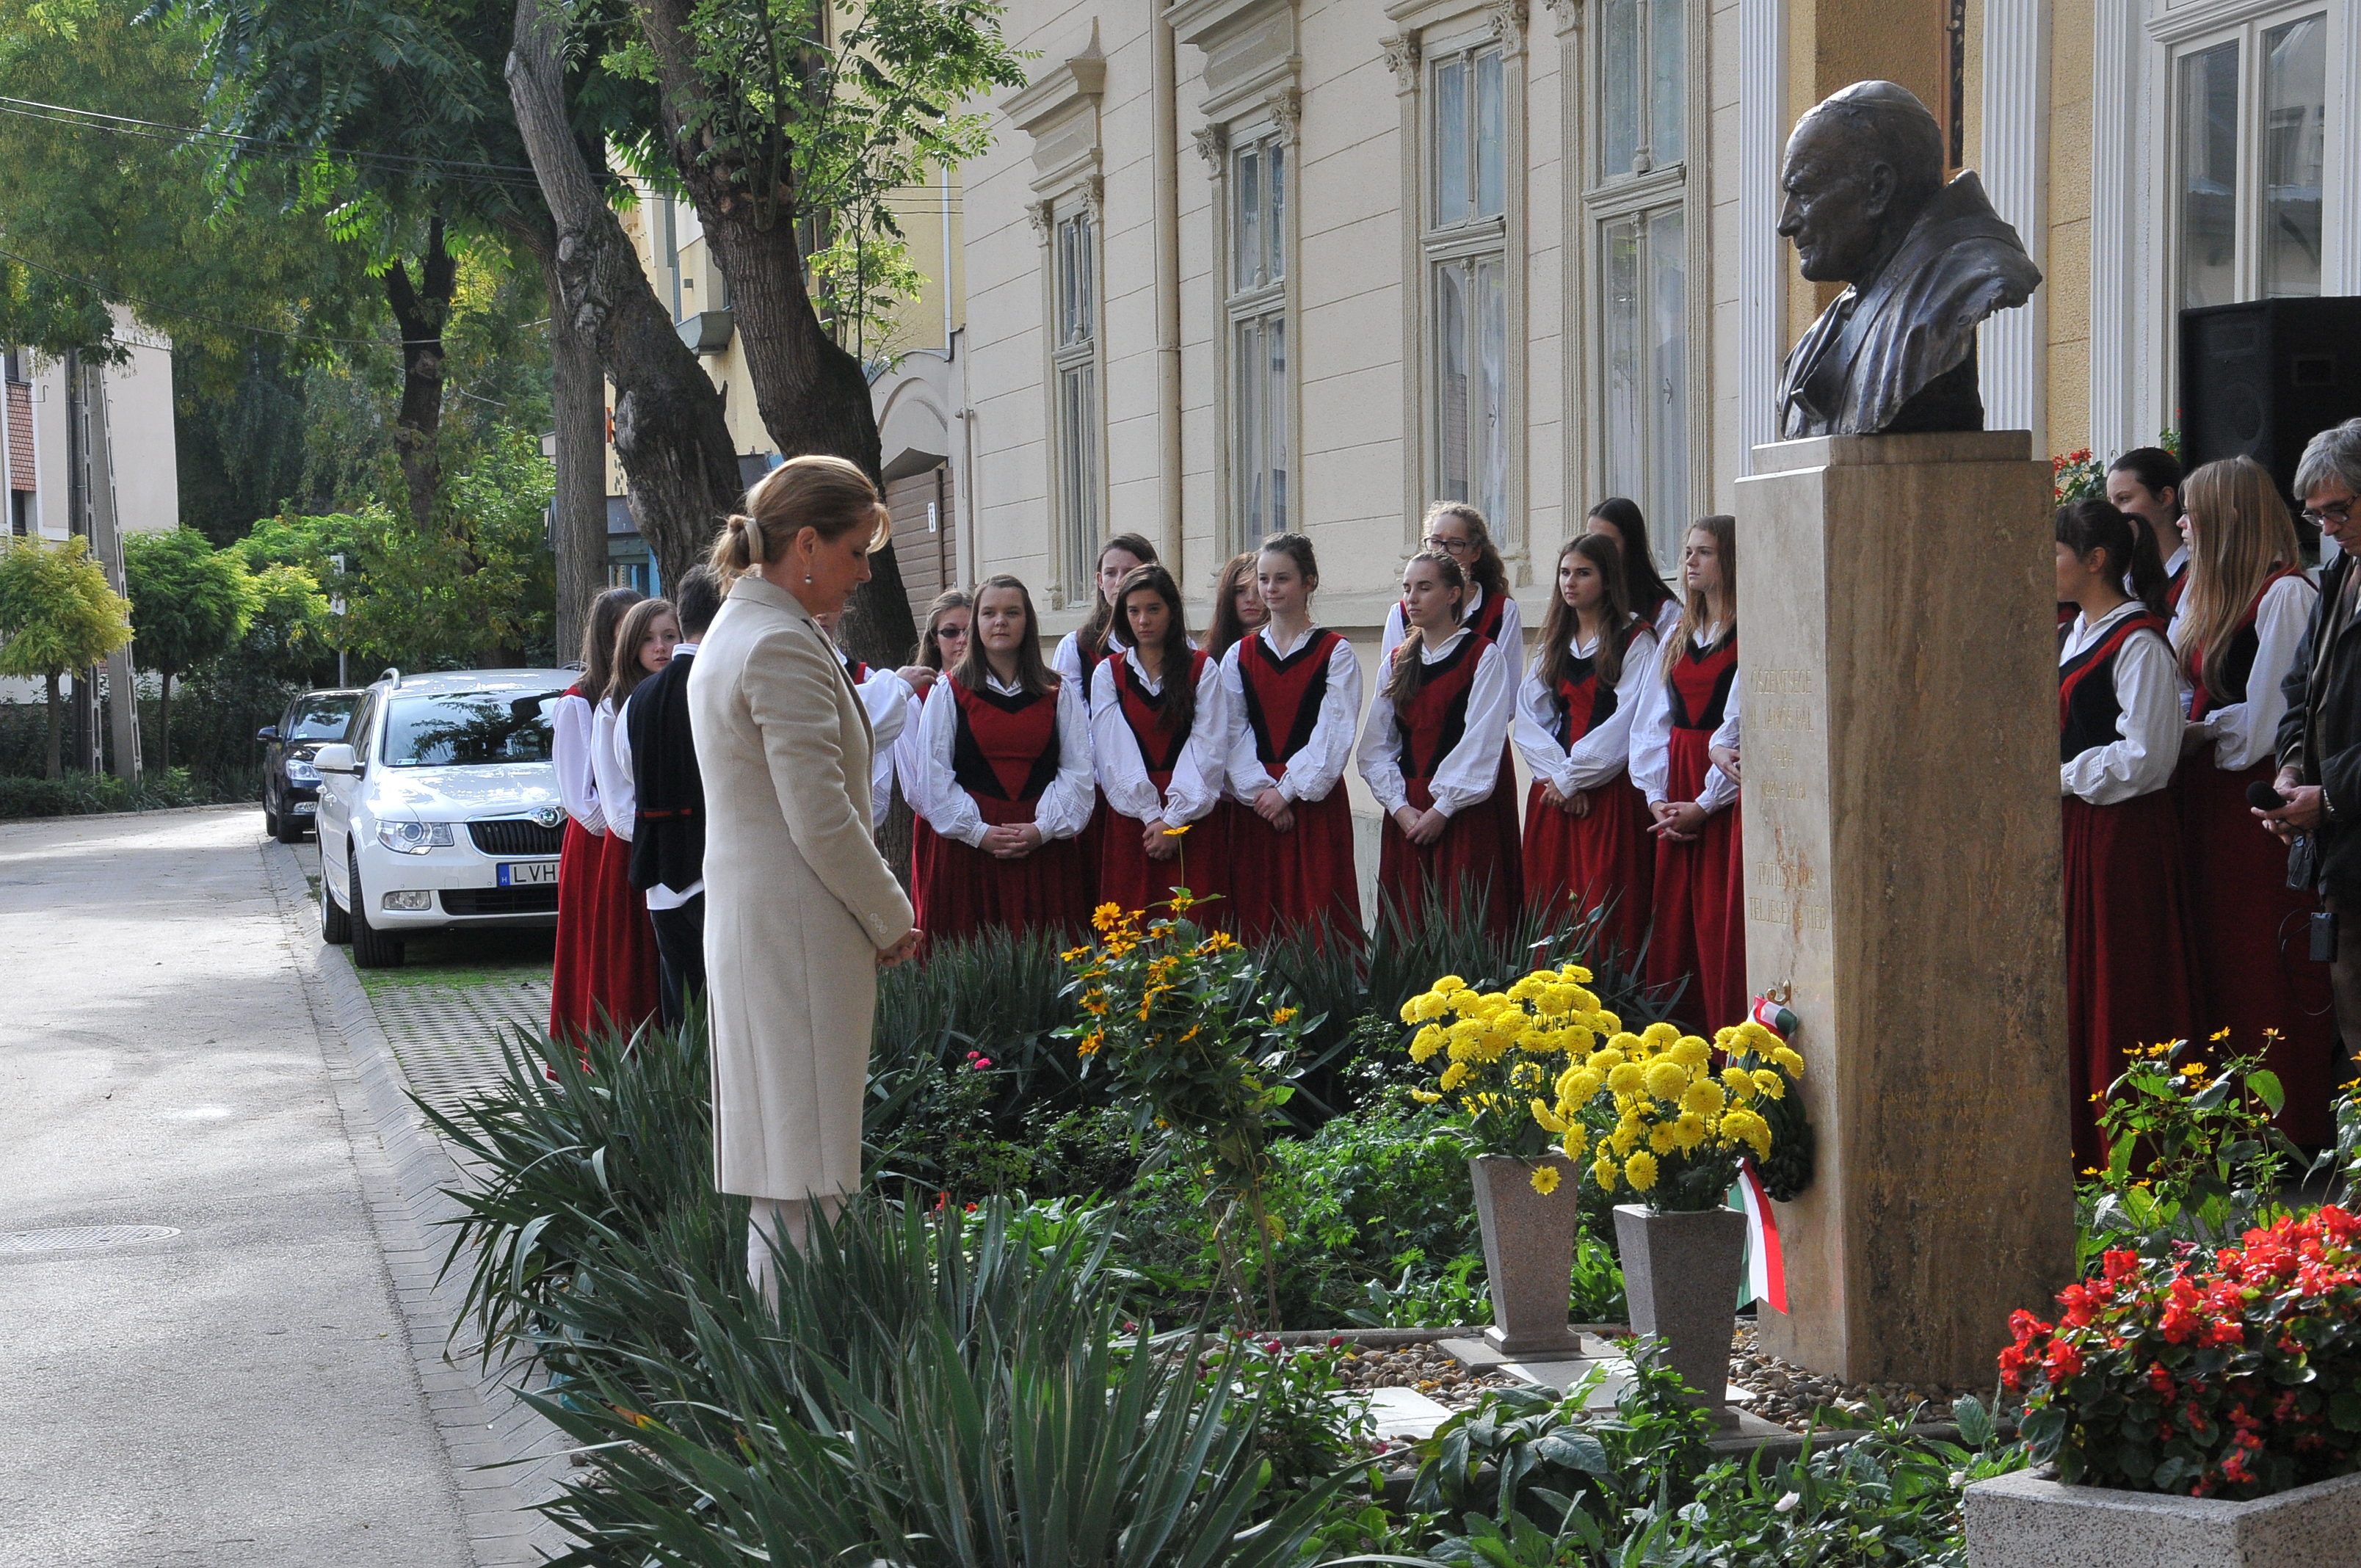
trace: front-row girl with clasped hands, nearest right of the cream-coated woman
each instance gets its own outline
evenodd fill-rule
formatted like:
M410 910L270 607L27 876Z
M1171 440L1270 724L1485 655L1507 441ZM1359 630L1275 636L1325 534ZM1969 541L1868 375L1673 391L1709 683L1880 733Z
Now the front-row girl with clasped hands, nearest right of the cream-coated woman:
M926 819L940 834L928 940L992 926L1081 928L1096 893L1091 716L1041 664L1032 595L1013 576L975 590L968 652L918 716Z

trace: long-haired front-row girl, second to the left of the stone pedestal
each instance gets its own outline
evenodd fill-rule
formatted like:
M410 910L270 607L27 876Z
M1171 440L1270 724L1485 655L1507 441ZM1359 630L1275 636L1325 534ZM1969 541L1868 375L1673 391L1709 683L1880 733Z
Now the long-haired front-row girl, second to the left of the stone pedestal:
M1613 904L1601 935L1636 954L1648 935L1655 841L1631 786L1631 716L1655 673L1655 631L1624 600L1622 550L1605 534L1558 550L1558 597L1516 694L1525 796L1525 897L1551 919Z

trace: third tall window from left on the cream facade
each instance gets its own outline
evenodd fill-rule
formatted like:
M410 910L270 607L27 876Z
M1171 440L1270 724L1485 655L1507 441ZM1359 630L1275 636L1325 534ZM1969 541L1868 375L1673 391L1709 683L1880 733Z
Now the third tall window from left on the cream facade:
M1504 529L1509 501L1509 111L1502 45L1428 61L1435 496Z

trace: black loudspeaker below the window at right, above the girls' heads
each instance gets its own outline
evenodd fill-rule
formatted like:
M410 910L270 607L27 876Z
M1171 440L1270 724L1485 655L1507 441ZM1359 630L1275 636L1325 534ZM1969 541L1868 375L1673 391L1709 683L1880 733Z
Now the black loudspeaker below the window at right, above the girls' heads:
M2356 413L2361 298L2182 312L2184 468L2245 456L2288 491L2304 442Z

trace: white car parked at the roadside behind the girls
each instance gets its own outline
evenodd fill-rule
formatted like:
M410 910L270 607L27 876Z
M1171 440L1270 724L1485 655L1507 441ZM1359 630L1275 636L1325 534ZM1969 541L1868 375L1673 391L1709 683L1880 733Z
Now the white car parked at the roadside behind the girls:
M361 968L451 926L555 926L567 810L550 711L571 671L385 675L321 746L319 933Z

